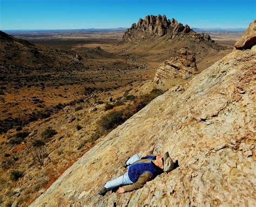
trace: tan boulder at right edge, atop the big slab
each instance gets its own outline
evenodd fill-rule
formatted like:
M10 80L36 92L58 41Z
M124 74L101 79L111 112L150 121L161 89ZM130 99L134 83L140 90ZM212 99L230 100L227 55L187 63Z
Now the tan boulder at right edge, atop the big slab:
M251 49L256 42L256 19L249 25L242 37L235 43L237 49Z

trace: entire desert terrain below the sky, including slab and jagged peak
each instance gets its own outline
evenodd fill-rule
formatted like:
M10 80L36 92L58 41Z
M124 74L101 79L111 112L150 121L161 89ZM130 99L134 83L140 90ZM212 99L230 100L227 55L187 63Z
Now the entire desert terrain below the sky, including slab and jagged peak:
M255 204L255 20L201 31L148 15L0 42L0 206ZM169 174L97 194L127 155L163 151Z

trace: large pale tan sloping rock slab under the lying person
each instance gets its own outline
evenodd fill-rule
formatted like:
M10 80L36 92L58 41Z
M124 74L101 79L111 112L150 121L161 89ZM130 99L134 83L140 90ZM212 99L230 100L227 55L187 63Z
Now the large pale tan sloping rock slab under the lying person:
M255 45L255 42L254 44ZM31 206L254 206L256 46L169 90L90 149ZM179 167L144 188L97 195L127 154L169 151Z

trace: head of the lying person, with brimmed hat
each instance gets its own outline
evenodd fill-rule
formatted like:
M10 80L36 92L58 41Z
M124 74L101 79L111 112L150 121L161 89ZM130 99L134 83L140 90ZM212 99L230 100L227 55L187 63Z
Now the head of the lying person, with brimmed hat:
M154 161L154 164L157 167L163 169L164 172L166 173L169 173L174 167L174 163L170 158L169 152L166 152L164 155L162 154L157 155L156 160Z

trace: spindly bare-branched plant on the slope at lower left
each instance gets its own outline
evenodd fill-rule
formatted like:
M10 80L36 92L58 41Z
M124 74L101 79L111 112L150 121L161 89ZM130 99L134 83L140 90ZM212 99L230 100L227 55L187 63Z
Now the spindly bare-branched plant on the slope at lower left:
M44 146L44 142L42 140L36 140L32 143L31 154L33 157L33 161L39 165L44 165L44 160L46 157L46 148Z

